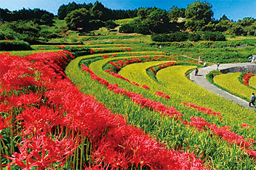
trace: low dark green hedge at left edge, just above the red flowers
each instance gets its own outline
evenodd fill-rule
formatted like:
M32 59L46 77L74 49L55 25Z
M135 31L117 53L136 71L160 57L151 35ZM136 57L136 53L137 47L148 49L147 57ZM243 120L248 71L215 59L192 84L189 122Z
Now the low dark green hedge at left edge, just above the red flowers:
M0 50L31 50L28 42L15 40L1 40Z

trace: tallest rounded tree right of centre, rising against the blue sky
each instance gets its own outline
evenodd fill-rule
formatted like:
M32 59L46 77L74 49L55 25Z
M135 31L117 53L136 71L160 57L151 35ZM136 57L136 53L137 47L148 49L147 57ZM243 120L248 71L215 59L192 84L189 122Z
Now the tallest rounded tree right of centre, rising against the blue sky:
M207 2L196 1L189 4L185 11L186 22L185 26L192 31L200 31L211 21L213 12L212 6Z

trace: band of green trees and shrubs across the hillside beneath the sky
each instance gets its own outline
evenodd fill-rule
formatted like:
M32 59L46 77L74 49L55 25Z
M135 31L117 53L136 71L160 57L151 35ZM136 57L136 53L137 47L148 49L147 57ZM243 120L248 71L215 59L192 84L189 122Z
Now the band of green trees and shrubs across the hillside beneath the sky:
M135 10L111 10L96 1L62 4L58 15L39 8L11 12L0 8L1 40L21 40L30 44L49 42L68 33L92 35L93 30L106 27L119 33L152 35L155 42L223 41L225 36L256 36L256 19L214 19L212 5L195 1L187 8L172 6L170 10L156 7ZM125 22L118 22L118 20ZM118 29L116 29L118 27Z

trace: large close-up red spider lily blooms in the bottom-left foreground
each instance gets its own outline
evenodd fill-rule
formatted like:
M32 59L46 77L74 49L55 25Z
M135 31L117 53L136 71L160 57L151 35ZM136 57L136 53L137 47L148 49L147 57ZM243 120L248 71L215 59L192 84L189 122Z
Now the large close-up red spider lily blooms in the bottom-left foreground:
M31 167L51 169L51 167L63 166L65 159L77 148L76 140L73 137L63 137L60 140L57 137L52 140L45 135L24 139L19 144L20 153L15 152L12 157L8 157L13 160L8 164L8 169L11 169L13 164L23 169L31 169Z

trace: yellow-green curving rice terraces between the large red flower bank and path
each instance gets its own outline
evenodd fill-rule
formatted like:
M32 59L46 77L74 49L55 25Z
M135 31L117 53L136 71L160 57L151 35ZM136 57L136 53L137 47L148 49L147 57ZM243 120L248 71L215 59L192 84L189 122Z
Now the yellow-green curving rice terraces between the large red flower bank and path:
M138 58L134 55L131 57ZM152 78L152 75L148 75L147 70L173 60L131 63L116 72L128 79L129 82L104 72L104 67L109 65L113 58L100 59L88 65L93 73L102 79L106 79L111 84L118 84L118 88L138 93L154 102L168 105L168 107L175 107L182 114L180 117L163 117L161 116L163 111L156 111L156 109L144 107L142 104L138 105L122 93L109 91L100 82L93 81L88 72L81 70L81 61L86 63L86 58L88 56L77 58L68 65L66 70L68 77L80 87L81 91L95 96L99 102L106 105L112 112L124 115L131 125L142 128L146 134L150 134L159 143L166 144L166 147L170 150L195 153L196 157L202 158L210 169L254 168L254 158L243 150L241 143L236 142L236 137L227 139L228 137L220 135L210 126L207 127L202 120L197 120L197 123L193 122L194 118L202 118L212 126L217 125L219 130L228 126L229 137L236 133L241 139L255 139L254 126L250 129L246 128L246 130L243 126L241 127L243 123L255 125L255 112L213 95L189 81L185 74L196 67L193 63L191 65L168 66L154 74L154 78ZM124 54L122 56L122 54L119 54L115 60L122 58L127 59L129 55ZM131 82L140 85L134 86ZM146 85L148 88L145 89L141 85ZM157 91L168 95L170 99L157 96ZM161 94L163 95L163 93ZM205 114L193 107L186 107L186 104L189 103L195 104L196 108L213 109L215 112L220 112L221 116ZM199 128L200 126L202 127ZM250 147L255 150L253 144Z

